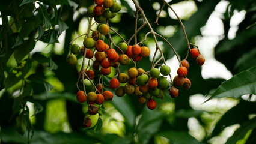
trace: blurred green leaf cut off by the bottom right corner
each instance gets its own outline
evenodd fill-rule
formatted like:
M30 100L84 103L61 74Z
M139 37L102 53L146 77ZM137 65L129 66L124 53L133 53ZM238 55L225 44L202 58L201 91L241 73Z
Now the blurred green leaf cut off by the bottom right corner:
M236 143L237 140L243 139L246 133L254 128L256 128L256 118L251 119L250 121L246 121L244 124L242 124L241 127L238 128L234 132L234 134L227 140L226 144Z

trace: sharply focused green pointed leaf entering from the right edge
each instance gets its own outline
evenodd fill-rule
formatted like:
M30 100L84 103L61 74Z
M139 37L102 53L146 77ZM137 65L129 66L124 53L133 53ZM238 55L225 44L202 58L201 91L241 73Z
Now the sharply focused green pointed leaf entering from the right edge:
M256 94L256 67L242 71L222 83L208 100L222 97L239 98L245 94Z

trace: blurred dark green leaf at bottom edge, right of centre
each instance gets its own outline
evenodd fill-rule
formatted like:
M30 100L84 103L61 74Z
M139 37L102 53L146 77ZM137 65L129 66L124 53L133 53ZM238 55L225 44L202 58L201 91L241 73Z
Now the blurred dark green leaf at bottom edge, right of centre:
M182 131L165 131L159 133L159 136L166 137L170 140L171 143L174 144L199 144L197 139L190 136L187 132Z

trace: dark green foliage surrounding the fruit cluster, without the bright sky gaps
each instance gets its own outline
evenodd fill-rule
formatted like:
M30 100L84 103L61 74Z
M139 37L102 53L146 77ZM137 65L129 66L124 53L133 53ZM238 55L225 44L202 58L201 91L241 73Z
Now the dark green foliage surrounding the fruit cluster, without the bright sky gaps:
M157 32L160 33L159 26L175 26L174 35L167 39L180 54L180 58L184 58L187 45L184 43L183 29L178 20L171 19L165 7L163 11L166 12L166 16L159 17L157 26L154 21L160 8L154 8L153 5L163 5L163 2L138 2L152 28L157 29ZM181 1L171 1L169 4L178 2ZM188 20L183 20L190 41L201 35L200 28L206 25L220 1L194 2L197 5L197 12ZM192 88L180 92L177 99L169 98L169 94L165 93L163 100L157 100L157 109L148 110L147 106L135 102L135 97L114 96L113 101L102 107L102 116L99 122L94 124L95 127L85 129L82 121L87 114L83 113L87 106L79 104L74 97L77 92L75 83L78 79L78 69L66 64L66 56L69 54L69 43L73 35L79 32L79 23L88 19L82 10L92 5L93 1L1 1L1 143L211 143L212 139L221 135L226 127L235 124L239 124L240 127L228 138L227 143L236 143L239 140L243 140L243 143L255 143L256 103L250 100L251 97L255 97L256 89L255 44L252 43L256 38L256 4L252 0L228 2L222 19L224 35L215 47L215 58L234 75L230 80L224 82L224 79L203 79L200 68L195 62L191 62L188 77L192 81ZM131 31L134 25L131 23L135 21L135 11L127 1L120 0L120 3L123 5L123 13L118 14L117 19L109 23L112 28L118 29L122 37L129 38L134 34ZM230 40L228 32L231 28L231 17L236 11L242 10L246 12L245 19L238 25L236 37ZM138 25L142 25L141 20L138 20ZM148 28L142 29L138 38L143 40L147 32ZM64 45L63 50L58 52L56 43L59 43L58 38L61 34L64 35ZM153 37L148 39L149 42L146 43L153 41ZM120 38L115 40L117 43L121 41ZM38 43L41 42L45 43L46 47L38 52ZM163 44L166 60L174 56L169 49L168 44ZM191 58L188 60L192 61ZM142 59L137 67L150 70L150 59ZM125 67L120 67L120 70L125 71ZM90 84L85 83L85 86L91 89ZM233 97L238 102L236 106L220 115L193 109L189 104L189 98L194 94L210 95L209 101L213 98ZM241 98L245 94L249 94L246 100ZM47 118L47 104L54 100L63 101L65 109L55 107L55 110L65 113L67 118L62 119L60 128L51 130L49 127L55 125L48 126L48 129L46 125L50 120L58 119L54 116L50 120ZM29 104L32 104L34 110L29 108ZM207 121L206 113L212 118L218 115L216 124ZM202 139L196 139L189 133L190 118L197 119L205 131ZM215 127L209 131L209 125ZM111 131L111 128L118 130Z

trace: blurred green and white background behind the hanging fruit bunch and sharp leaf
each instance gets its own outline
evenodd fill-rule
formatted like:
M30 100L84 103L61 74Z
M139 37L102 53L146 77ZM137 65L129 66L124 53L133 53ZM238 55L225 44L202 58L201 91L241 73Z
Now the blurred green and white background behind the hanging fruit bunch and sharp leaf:
M121 11L109 20L109 26L129 40L134 33L135 5L130 0L117 2ZM163 1L138 2L154 31L184 59L186 39L174 13L165 6L157 25L154 22ZM92 128L84 128L87 104L75 97L82 55L77 55L75 66L67 65L66 57L70 41L87 32L86 12L93 0L1 1L0 143L256 143L255 73L250 75L251 85L242 89L248 95L235 97L231 91L206 101L225 80L245 70L255 71L249 68L256 65L256 2L167 2L184 23L189 41L199 46L206 59L199 67L195 59L188 58L192 87L188 91L180 88L175 99L166 91L163 100L156 100L155 110L139 104L135 95L114 95L105 102L101 115L91 116ZM138 26L142 24L139 15ZM143 28L138 41L148 31ZM122 41L114 32L111 36L116 44ZM74 43L82 46L83 40L80 37ZM157 40L174 77L177 58L165 41ZM150 47L151 55L142 58L137 68L148 71L156 45L151 36L143 44ZM127 73L130 67L132 62L120 71ZM113 68L109 76L114 75ZM92 87L88 80L85 85ZM97 122L99 116L102 122Z

